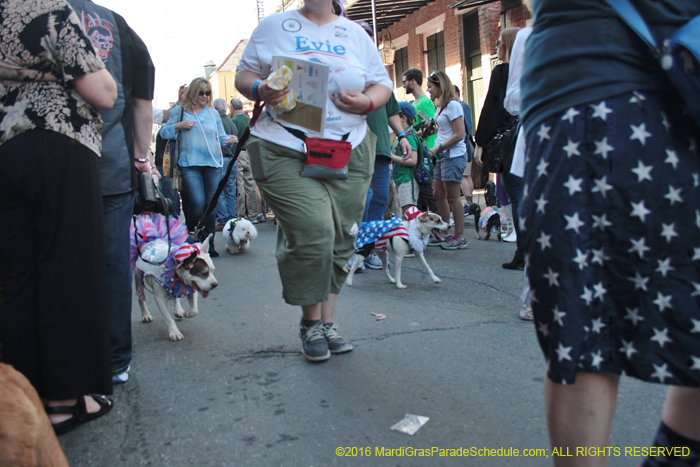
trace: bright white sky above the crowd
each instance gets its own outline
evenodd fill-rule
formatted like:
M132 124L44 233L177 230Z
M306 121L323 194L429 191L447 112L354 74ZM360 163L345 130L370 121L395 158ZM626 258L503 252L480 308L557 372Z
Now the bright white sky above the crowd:
M204 63L218 66L258 23L256 0L94 0L124 17L148 46L156 66L153 105L167 108ZM280 0L264 0L265 15Z

